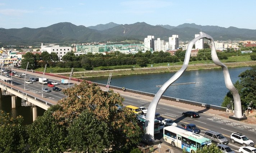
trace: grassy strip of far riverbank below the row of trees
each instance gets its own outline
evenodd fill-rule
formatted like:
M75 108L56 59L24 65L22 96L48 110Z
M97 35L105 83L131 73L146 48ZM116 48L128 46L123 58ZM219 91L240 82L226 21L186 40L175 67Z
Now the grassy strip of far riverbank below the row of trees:
M224 63L228 68L230 67L244 67L244 66L256 66L256 61L246 61L246 62L231 62ZM159 66L159 67L143 67L143 68L133 68L133 69L119 69L119 70L105 70L105 71L84 71L84 72L74 72L73 77L76 78L89 78L89 77L106 77L112 72L112 76L122 76L122 75L139 75L139 74L149 74L149 73L168 73L179 71L182 65L174 66ZM187 70L205 70L221 68L214 63L206 64L189 64ZM60 75L69 76L70 73L58 73Z

